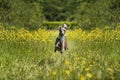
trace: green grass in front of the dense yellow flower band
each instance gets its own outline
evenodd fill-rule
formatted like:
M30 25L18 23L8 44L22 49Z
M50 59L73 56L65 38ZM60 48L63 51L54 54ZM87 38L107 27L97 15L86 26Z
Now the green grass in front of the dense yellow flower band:
M54 53L54 38L50 43L0 41L0 80L120 79L120 41L68 39L68 44L60 54Z

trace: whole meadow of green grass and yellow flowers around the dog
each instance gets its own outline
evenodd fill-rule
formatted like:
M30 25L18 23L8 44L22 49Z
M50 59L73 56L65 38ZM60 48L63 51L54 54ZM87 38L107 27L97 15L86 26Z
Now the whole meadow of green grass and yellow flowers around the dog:
M68 30L67 51L54 52L56 30L0 28L0 80L119 80L120 30Z

